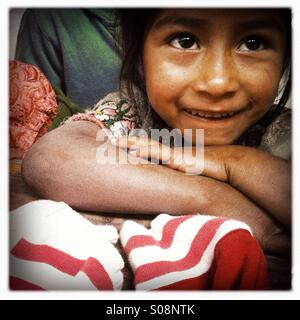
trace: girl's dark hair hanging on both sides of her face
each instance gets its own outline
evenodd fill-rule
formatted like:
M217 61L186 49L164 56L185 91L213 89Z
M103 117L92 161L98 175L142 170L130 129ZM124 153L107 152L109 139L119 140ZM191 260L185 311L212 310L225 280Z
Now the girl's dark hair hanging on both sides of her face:
M266 128L283 111L291 91L291 10L287 8L270 9L276 10L284 19L287 28L287 47L282 74L287 72L281 98L274 104L268 112L256 123ZM120 71L120 90L126 92L133 102L135 99L135 89L146 97L146 88L141 74L142 52L145 37L151 28L160 9L118 9L115 10L116 21L119 28L119 43L121 47L122 66ZM251 127L252 128L252 127ZM250 129L251 129L250 128ZM247 130L242 139L248 135ZM254 144L259 144L257 141Z

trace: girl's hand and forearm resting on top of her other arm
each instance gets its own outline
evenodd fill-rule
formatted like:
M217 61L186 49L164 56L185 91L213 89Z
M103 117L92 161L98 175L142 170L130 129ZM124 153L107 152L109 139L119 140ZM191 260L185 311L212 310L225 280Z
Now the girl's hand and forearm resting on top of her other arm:
M285 227L290 228L290 164L266 152L243 146L209 146L203 153L169 148L144 137L122 137L116 144L131 154L159 160L172 169L228 183Z

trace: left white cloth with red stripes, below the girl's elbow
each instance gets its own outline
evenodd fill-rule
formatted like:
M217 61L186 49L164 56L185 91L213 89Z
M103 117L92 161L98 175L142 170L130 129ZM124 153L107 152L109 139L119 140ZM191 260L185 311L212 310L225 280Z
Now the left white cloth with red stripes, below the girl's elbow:
M113 226L97 226L63 202L10 213L12 290L119 290L124 262Z

